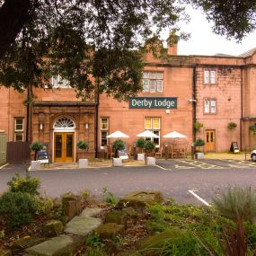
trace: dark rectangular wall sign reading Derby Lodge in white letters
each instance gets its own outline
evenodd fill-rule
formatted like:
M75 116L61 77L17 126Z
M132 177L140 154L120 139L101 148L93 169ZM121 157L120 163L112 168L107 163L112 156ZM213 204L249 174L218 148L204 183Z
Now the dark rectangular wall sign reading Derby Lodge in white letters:
M130 109L176 110L177 98L173 97L136 97L129 99Z

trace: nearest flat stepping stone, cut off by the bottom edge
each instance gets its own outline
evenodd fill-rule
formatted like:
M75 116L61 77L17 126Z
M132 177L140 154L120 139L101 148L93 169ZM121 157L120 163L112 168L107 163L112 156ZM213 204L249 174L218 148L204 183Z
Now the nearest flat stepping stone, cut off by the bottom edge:
M84 237L59 235L28 248L26 252L40 256L73 256L84 243Z

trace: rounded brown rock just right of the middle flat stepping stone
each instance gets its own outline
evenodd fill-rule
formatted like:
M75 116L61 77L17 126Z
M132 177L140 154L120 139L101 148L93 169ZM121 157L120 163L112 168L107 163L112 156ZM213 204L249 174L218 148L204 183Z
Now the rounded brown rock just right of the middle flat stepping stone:
M113 239L118 234L123 234L124 225L118 225L116 223L106 223L96 228L95 232L99 234L102 239Z

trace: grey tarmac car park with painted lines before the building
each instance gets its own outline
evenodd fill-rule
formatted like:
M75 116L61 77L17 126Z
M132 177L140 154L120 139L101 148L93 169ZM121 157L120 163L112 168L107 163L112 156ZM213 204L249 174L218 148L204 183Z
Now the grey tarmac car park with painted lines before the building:
M0 193L15 172L25 174L25 167L9 164L0 169ZM205 204L228 186L256 189L256 163L234 159L158 160L157 166L46 169L30 174L40 178L41 192L51 197L90 190L101 199L102 188L107 187L118 198L131 190L160 190L181 204Z

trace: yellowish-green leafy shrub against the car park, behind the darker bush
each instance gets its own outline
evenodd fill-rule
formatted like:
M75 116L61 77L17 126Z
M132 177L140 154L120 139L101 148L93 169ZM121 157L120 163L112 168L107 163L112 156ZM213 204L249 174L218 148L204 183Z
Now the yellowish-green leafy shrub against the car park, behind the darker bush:
M10 187L9 191L11 192L36 195L40 187L40 180L38 178L31 178L28 172L26 172L26 177L21 177L19 173L15 173L15 177L11 181L8 181L7 185Z

